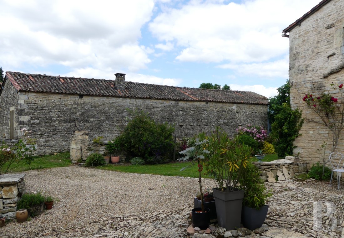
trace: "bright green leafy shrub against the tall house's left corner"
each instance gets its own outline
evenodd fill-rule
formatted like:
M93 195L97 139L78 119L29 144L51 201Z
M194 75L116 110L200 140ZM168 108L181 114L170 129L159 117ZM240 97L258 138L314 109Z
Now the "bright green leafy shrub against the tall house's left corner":
M279 107L279 113L275 115L275 122L271 125L273 146L279 158L293 154L293 142L300 135L302 124L303 119L298 108L293 110L288 103Z

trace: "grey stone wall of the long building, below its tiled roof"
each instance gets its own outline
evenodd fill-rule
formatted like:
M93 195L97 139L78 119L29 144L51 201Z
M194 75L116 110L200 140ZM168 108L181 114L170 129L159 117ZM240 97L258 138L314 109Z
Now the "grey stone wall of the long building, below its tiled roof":
M9 90L8 90L9 91ZM7 91L6 91L7 92ZM7 93L1 95L1 98ZM212 132L221 126L230 135L241 125L267 127L267 105L185 102L21 92L18 130L25 127L36 139L35 154L69 151L75 130L89 131L91 139L117 137L132 118L126 110L145 111L158 122L175 125L177 138ZM4 120L8 118L4 116ZM0 127L7 130L7 127ZM2 131L0 131L2 133ZM18 132L19 134L19 132Z

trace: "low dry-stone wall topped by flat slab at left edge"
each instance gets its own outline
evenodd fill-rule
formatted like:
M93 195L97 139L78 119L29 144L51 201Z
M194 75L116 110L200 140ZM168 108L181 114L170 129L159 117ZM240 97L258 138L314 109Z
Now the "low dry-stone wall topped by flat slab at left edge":
M25 174L0 175L0 216L14 219L17 211L17 202L25 191Z

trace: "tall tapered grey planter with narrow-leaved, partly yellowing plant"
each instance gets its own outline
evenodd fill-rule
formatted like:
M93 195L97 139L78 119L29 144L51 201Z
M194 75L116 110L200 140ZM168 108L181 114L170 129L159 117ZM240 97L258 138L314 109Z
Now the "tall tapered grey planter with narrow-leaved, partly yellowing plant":
M220 128L216 128L207 148L210 155L204 160L204 167L217 185L213 195L218 224L226 230L239 228L244 191L239 189L238 182L249 163L252 149L239 143L237 138L230 139Z

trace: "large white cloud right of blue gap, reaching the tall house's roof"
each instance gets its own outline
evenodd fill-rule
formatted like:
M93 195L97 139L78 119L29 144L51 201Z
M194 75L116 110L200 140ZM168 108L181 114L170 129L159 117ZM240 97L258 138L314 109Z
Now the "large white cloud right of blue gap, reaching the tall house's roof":
M264 62L288 53L289 42L281 37L282 29L318 3L218 2L190 1L178 9L168 8L149 24L149 29L160 41L176 41L181 48L176 57L180 61Z

